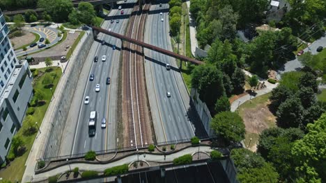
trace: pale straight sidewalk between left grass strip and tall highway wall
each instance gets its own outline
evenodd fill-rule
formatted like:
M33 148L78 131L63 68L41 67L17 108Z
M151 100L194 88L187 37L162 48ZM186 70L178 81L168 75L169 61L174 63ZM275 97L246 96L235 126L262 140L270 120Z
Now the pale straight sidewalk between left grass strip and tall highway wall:
M84 41L86 40L87 34L84 35L84 37L81 38L81 43L77 45L74 53L77 53L79 51L79 49L81 48L81 45L84 43ZM77 57L77 54L72 54L72 57L70 59L70 62L74 62L75 58ZM68 63L68 62L67 62ZM59 83L56 87L56 91L54 92L54 96L61 96L65 90L65 88L63 88L65 82L68 82L68 76L70 74L70 71L72 69L73 63L70 64L66 64L65 65L65 74L63 74L63 76L61 76L61 79L59 80ZM42 67L42 65L38 66L38 67ZM57 106L59 105L59 97L53 98L52 102L49 103L49 107L47 108L47 112L45 113L44 119L42 121L42 125L40 126L40 132L34 143L33 143L33 147L31 148L31 152L29 153L29 157L26 160L25 166L25 172L24 172L24 176L22 178L22 182L30 182L31 180L33 180L33 176L34 176L34 170L37 164L37 159L42 158L43 155L43 151L45 149L46 143L47 143L47 136L49 135L49 130L51 129L51 124L50 123L50 119L53 118L54 112L56 111Z

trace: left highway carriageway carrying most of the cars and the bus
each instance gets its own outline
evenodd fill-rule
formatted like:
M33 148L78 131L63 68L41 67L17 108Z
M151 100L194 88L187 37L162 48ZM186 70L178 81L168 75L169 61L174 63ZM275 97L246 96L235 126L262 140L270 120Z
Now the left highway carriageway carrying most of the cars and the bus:
M128 3L131 3L130 1ZM125 15L129 15L132 8L125 9ZM111 10L109 18L104 22L104 28L111 28L115 33L124 34L128 19L120 19L121 15L118 9ZM114 23L109 21L114 17ZM106 26L107 25L107 26ZM61 155L70 155L77 153L86 153L89 150L106 150L116 148L116 113L117 113L117 92L118 92L118 62L120 59L121 40L117 40L109 35L98 35L99 40L104 40L105 45L100 42L94 42L91 53L86 59L87 66L83 69L84 80L86 83L78 84L74 101L70 107L68 114L68 123L64 132L64 144L61 144ZM116 45L116 49L112 49L111 45ZM94 49L94 51L92 51ZM98 62L94 62L94 57L98 56ZM102 62L102 55L106 55L107 59ZM89 67L89 68L88 68ZM91 73L94 74L94 80L89 80ZM106 84L107 77L111 78L111 84ZM95 85L100 84L100 92L95 92ZM88 105L84 104L85 96L90 97ZM74 110L76 107L79 110ZM88 137L88 120L90 112L95 110L98 114L96 123L96 133L94 137ZM107 128L101 128L102 118L107 119Z

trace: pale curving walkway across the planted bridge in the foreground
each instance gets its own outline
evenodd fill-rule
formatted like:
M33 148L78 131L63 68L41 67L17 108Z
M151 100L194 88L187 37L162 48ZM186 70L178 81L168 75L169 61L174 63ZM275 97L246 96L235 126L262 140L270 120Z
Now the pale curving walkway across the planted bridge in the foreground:
M173 153L171 155L166 155L166 159L164 160L164 155L150 155L146 154L146 157L143 157L143 155L130 155L123 159L119 159L116 162L111 162L107 164L86 164L86 163L72 163L70 165L61 166L59 168L55 168L52 171L47 171L45 173L37 174L33 177L34 181L42 181L47 180L48 177L51 177L53 175L57 175L60 173L65 173L66 171L70 171L70 168L73 169L75 167L79 167L79 171L101 171L103 172L106 168L111 168L113 166L119 166L122 164L131 164L134 161L143 160L146 162L172 162L173 159L176 157L180 157L182 155L194 155L194 153L197 153L199 151L198 147L190 147L186 148L184 150L179 151L178 153ZM210 153L212 149L209 146L201 146L200 152ZM137 157L138 156L138 157Z

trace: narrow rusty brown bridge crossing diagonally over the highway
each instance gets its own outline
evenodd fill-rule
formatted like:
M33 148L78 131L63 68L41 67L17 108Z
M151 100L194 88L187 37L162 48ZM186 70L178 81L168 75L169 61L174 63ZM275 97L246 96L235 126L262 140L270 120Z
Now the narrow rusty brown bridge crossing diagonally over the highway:
M116 37L116 38L120 39L121 41L131 42L132 44L137 44L137 45L141 46L142 48L157 51L159 53L162 53L164 55L169 55L169 56L171 56L173 58L177 58L179 60L183 60L183 61L186 61L186 62L192 62L194 64L203 64L203 62L201 62L199 60L196 60L194 58L188 58L188 57L186 57L184 55L179 55L177 53L173 53L172 51L168 51L166 49L161 49L161 48L159 48L157 46L153 46L151 44L147 44L147 43L141 42L139 40L134 40L134 39L132 39L130 37L127 37L125 35L120 35L120 34L111 32L109 30L105 30L103 28L98 28L98 27L95 27L95 26L91 26L91 28L93 29L94 39L97 37L98 33L104 33L106 35L111 35L113 37Z

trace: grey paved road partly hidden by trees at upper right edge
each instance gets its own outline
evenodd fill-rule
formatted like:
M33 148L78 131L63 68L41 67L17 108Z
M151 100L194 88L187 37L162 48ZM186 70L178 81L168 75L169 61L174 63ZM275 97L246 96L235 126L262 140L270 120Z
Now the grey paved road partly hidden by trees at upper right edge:
M318 52L316 49L318 46L323 46L324 48L326 47L326 37L320 37L320 39L316 40L312 44L310 44L306 49L304 49L304 53L307 51L310 51L311 54L316 55ZM300 70L303 67L301 62L297 60L297 56L295 56L295 60L290 60L284 64L284 69L277 71L277 79L281 79L281 74L286 73L289 71L297 71Z

